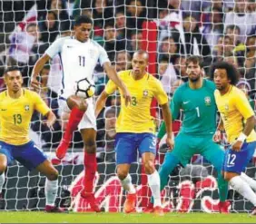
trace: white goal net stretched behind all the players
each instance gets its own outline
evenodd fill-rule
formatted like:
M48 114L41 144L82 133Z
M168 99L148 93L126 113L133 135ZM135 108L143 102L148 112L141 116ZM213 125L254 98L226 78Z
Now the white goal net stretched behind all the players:
M51 0L2 1L0 21L0 70L17 65L29 85L36 60L47 47L61 36L72 35L78 15L94 20L92 39L107 51L116 71L131 69L136 50L149 53L148 71L157 77L170 99L175 89L187 82L185 69L189 55L201 55L204 76L208 78L213 62L234 64L241 73L238 87L248 96L254 110L255 96L255 21L256 4L245 0ZM54 151L62 138L66 121L61 120L58 93L62 80L62 66L56 56L44 66L40 74L40 95L53 109L58 121L54 131L34 113L30 127L31 138L49 156L60 172L60 187L56 203L75 211L90 210L79 192L83 188L84 153L80 133L75 131L72 145L64 158L58 161ZM94 71L96 98L102 93L108 79L98 64ZM5 89L3 75L1 90ZM97 119L98 173L95 179L95 197L106 211L123 209L124 191L115 176L114 137L116 116L120 110L120 95L109 97L104 111ZM161 110L152 103L152 114L157 128L162 121ZM66 117L67 119L68 117ZM182 119L173 122L179 131ZM162 141L164 142L164 141ZM166 147L160 144L156 166L162 162ZM254 161L246 170L254 178ZM131 169L133 183L138 191L137 209L148 203L150 190L140 158ZM44 209L44 176L27 171L13 163L6 171L5 200L0 209ZM200 155L192 157L186 168L173 170L168 186L162 192L164 208L170 211L218 211L216 171ZM231 211L247 212L251 204L230 188Z

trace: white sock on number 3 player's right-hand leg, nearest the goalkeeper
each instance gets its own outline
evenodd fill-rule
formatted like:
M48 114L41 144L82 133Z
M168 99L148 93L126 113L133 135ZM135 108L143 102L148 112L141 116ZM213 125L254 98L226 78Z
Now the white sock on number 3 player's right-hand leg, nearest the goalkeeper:
M157 170L153 174L148 174L148 183L153 195L153 207L162 206L160 192L160 177Z

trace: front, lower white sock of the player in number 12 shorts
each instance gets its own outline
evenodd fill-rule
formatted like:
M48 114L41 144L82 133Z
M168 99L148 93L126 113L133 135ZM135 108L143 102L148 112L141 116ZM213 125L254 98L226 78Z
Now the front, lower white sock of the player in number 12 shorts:
M251 201L256 206L256 194L251 190L250 185L241 179L241 176L235 176L230 180L231 187L237 190L245 199Z

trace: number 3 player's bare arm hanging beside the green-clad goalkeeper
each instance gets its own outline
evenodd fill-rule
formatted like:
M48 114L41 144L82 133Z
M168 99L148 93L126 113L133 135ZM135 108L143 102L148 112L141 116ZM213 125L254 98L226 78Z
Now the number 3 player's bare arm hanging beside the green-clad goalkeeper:
M170 147L170 149L173 149L174 141L172 138L172 113L170 111L168 102L162 104L161 107L162 107L162 117L166 125L166 133L167 133L166 144Z

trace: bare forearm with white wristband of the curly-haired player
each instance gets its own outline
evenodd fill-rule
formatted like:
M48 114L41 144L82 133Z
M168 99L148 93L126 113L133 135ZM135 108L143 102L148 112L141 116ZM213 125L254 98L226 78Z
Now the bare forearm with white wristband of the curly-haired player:
M247 136L250 135L252 129L254 129L254 126L255 126L255 118L254 118L254 116L251 116L250 118L248 118L246 120L244 129L241 132L240 136L237 138L237 141L235 141L232 144L233 151L241 151L241 146L243 144L243 141L245 141Z

